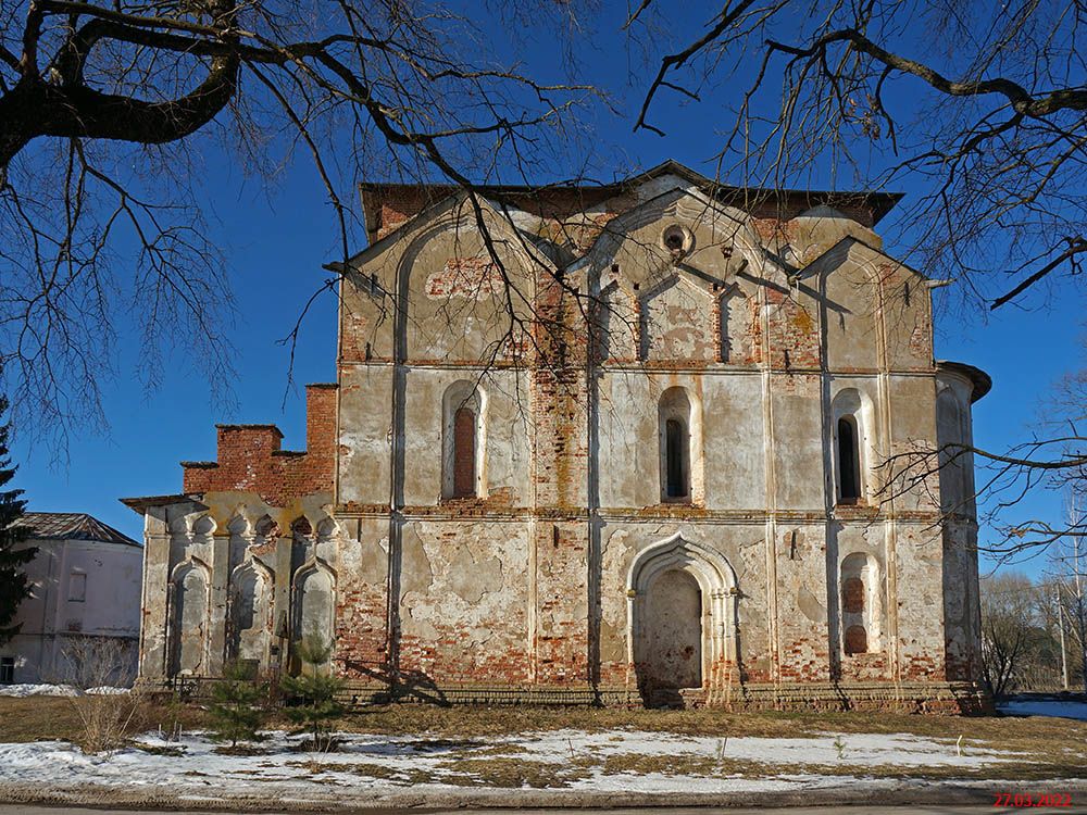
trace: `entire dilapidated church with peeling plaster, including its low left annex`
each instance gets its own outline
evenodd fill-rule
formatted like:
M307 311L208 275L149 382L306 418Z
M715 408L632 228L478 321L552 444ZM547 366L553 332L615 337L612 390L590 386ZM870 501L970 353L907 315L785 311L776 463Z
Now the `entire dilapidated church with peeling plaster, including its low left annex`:
M935 359L898 198L365 186L305 450L218 425L125 499L142 680L313 634L360 702L977 706L973 464L885 485L990 383Z

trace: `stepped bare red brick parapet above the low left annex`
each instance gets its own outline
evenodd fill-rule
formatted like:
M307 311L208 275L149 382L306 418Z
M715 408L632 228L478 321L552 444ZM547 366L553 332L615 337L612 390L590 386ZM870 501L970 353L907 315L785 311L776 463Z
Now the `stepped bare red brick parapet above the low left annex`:
M213 462L182 462L185 492L255 492L273 505L330 492L336 467L336 385L305 386L303 451L280 450L275 425L216 425Z

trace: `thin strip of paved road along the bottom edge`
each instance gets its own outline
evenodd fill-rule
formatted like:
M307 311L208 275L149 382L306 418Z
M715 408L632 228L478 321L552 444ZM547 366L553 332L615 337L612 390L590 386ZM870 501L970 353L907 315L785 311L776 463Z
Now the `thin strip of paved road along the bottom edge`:
M640 810L360 810L373 815L979 815L980 813L1087 813L1087 806L1012 810L992 806L814 806L774 810L730 810L717 807ZM162 810L84 810L78 807L23 806L0 804L0 815L161 815ZM230 815L229 813L174 812L172 815ZM250 815L254 815L250 813ZM260 814L255 814L260 815ZM270 810L265 815L276 815Z

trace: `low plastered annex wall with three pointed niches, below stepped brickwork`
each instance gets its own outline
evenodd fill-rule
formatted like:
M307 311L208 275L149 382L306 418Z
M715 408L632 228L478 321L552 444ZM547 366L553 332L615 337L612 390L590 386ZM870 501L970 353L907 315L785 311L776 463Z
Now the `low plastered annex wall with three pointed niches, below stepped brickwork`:
M329 499L277 507L232 490L147 507L141 679L214 677L232 660L274 673L290 667L304 630L332 640L333 620L314 626L299 603L310 572L335 588L342 536ZM249 594L247 573L255 575Z

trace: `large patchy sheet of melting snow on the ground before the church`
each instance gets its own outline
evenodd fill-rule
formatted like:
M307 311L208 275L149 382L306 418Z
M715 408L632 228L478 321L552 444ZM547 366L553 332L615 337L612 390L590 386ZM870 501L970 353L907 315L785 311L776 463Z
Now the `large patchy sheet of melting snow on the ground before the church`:
M148 734L138 740L143 749L103 755L85 755L61 741L0 744L0 785L161 787L178 795L226 797L252 793L259 787L262 794L304 797L327 794L335 788L350 788L353 793L509 786L509 778L496 780L488 775L492 767L512 766L535 773L542 768L537 786L553 778L554 786L571 790L728 793L810 790L855 780L854 775L825 774L827 765L863 776L869 767L954 765L969 769L1024 760L1017 753L976 747L959 755L953 741L904 734L717 739L623 729L557 730L487 740L350 734L343 735L339 752L327 754L299 752L300 738L270 734L257 755L221 754L199 734L180 741ZM663 760L677 769L624 765L639 758ZM619 761L611 765L610 760ZM735 762L755 762L764 770L746 766L739 772Z

